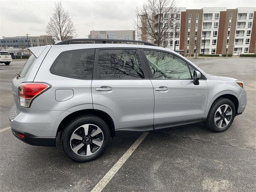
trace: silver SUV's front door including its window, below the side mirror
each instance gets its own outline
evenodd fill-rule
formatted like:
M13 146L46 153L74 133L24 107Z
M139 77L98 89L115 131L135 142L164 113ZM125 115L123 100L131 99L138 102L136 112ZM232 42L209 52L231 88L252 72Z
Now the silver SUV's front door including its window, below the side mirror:
M153 84L154 128L166 128L202 120L207 103L208 86L205 80L194 85L194 68L185 60L160 50L144 50Z

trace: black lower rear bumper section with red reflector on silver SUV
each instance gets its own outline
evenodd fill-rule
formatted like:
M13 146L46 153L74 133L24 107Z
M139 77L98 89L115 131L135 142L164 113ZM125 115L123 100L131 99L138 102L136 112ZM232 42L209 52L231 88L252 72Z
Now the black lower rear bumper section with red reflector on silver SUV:
M17 132L13 128L11 128L12 133L16 138L19 140L30 144L30 145L36 145L36 146L47 146L47 147L54 147L56 146L56 137L37 137L29 133L25 132ZM17 134L24 135L24 138L18 136Z

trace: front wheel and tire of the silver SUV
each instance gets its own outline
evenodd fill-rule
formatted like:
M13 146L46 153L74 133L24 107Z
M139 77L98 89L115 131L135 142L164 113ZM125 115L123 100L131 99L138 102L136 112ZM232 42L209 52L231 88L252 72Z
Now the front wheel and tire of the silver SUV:
M223 132L232 125L235 115L234 103L227 98L218 98L212 104L205 124L213 132Z

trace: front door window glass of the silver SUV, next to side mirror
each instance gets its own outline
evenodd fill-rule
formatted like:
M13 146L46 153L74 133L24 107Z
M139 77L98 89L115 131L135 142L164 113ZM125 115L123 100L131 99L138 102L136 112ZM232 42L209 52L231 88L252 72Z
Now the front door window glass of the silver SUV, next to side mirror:
M191 79L190 70L179 57L161 51L144 50L155 79Z

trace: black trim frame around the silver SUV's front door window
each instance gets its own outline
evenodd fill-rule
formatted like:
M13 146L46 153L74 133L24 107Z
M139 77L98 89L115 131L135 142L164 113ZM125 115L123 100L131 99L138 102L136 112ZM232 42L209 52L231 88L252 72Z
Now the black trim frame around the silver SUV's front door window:
M168 52L168 51L165 51L165 50L150 49L150 48L149 48L149 49L148 49L148 48L140 48L140 50L141 50L141 54L142 54L142 56L143 56L143 58L144 58L145 64L146 64L146 66L147 66L147 69L149 69L149 70L148 70L148 72L149 72L149 73L148 73L148 76L149 76L149 79L151 79L151 80L190 80L190 81L191 81L191 80L193 80L193 75L192 75L192 73L191 73L191 71L190 71L190 67L189 67L189 66L191 66L192 68L194 68L194 70L200 72L200 70L198 70L198 68L192 66L188 61L186 61L184 58L182 58L182 57L179 56L178 54L175 54L175 53L172 53L172 52ZM149 63L148 63L148 60L147 60L147 58L146 58L146 54L144 53L144 50L165 52L165 53L169 53L169 54L175 55L176 57L180 58L181 60L183 60L184 62L186 62L186 64L188 65L188 69L189 69L189 71L190 71L190 75L192 76L192 79L155 79L154 76L153 76L153 74L152 74L152 71L151 71L150 65L149 65ZM201 72L200 72L200 73L201 73ZM204 74L201 73L201 78L200 78L200 80L207 80L207 78L206 78L206 76L204 76Z

